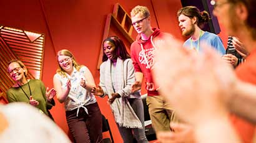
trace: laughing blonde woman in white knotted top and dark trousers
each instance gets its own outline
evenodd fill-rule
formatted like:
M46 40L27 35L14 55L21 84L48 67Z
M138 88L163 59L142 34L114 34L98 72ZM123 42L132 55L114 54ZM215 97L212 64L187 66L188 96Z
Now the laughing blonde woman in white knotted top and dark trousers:
M59 67L54 75L57 99L65 103L66 119L76 143L102 142L102 115L91 90L91 71L79 65L69 50L57 52Z

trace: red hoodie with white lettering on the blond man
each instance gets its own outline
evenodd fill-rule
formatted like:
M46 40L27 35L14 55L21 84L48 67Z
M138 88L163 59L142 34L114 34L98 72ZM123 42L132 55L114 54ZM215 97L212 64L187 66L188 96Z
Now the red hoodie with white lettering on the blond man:
M130 46L130 56L135 72L139 71L144 74L146 79L145 88L148 96L159 95L157 92L159 86L155 84L151 73L155 64L155 45L162 44L167 36L171 36L170 34L160 32L160 30L156 28L152 30L154 32L149 36L149 39L142 40L139 34L137 35L137 39Z

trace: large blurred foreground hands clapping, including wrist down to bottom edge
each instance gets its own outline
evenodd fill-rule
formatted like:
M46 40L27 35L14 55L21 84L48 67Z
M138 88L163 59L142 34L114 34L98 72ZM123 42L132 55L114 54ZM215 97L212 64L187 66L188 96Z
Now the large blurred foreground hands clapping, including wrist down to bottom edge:
M197 142L239 142L227 109L232 91L239 87L233 68L207 45L200 45L202 53L194 53L179 40L168 42L157 47L155 55L160 95L179 119L194 127Z

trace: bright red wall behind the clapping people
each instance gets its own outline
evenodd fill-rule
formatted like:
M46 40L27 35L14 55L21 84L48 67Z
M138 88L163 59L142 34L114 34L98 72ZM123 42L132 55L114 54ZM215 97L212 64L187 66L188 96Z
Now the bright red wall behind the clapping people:
M158 24L162 31L184 39L180 34L176 17L176 12L181 7L179 0L98 0L97 4L94 1L85 0L0 1L0 25L46 35L42 73L42 81L46 86L53 85L52 77L57 68L55 55L62 48L71 50L76 60L91 70L97 84L99 83L97 60L106 16L112 12L114 4L117 2L127 12L130 12L136 5L147 6L151 12L153 27L157 27ZM111 34L120 35L116 29L111 29ZM142 89L142 94L144 93L145 90ZM107 104L107 99L97 98L97 101L102 113L109 119L114 140L120 142L121 136ZM56 123L67 133L64 105L56 103L57 105L51 110L51 113Z

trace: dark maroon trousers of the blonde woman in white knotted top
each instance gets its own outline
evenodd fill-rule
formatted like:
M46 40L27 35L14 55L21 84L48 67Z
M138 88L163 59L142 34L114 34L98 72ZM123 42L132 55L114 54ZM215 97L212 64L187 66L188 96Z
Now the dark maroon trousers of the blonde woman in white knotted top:
M97 103L85 106L79 109L77 116L77 109L66 111L67 124L69 131L76 143L97 143L102 141L102 114Z

